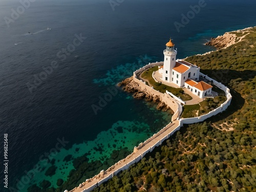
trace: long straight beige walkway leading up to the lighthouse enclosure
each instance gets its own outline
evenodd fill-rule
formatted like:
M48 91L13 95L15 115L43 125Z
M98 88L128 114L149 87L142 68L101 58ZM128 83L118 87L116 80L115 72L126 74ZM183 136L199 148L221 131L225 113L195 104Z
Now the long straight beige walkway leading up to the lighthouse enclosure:
M152 146L154 146L156 143L159 142L159 140L161 140L163 137L165 137L166 135L171 134L176 127L179 126L179 121L175 120L173 123L168 124L164 129L162 129L161 131L159 131L157 134L155 134L152 138L146 140L142 146L140 146L140 148L138 149L138 151L136 151L135 153L133 153L133 155L129 158L126 159L125 161L123 161L122 163L118 164L115 166L115 168L113 168L111 171L109 172L104 172L104 174L102 175L102 177L100 179L93 179L91 182L84 184L81 188L76 187L74 190L70 190L72 192L81 192L84 189L90 188L91 186L97 185L97 183L106 178L107 176L109 176L110 174L112 174L113 172L115 172L116 170L118 170L119 168L125 166L126 164L134 161L135 157L140 156L141 154L145 153L148 148L151 148Z

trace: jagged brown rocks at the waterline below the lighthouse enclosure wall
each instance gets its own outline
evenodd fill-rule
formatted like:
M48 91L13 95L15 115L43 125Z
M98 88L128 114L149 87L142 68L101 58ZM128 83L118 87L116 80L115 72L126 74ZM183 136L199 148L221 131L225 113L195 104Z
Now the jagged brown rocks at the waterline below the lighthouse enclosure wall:
M122 87L122 90L134 93L133 97L136 99L145 99L147 102L155 102L158 103L157 110L161 110L163 112L166 112L167 110L171 111L171 114L174 114L173 110L170 109L169 106L167 106L164 102L160 100L160 96L158 95L152 95L150 93L147 93L146 91L142 90L139 86L139 83L135 82L133 80L133 76L124 79L123 81L119 82L117 86Z

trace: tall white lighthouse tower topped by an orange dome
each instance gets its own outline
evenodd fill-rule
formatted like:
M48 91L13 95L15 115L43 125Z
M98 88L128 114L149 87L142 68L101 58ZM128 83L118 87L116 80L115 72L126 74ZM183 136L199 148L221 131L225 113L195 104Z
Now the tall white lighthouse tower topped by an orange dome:
M174 44L172 39L166 44L166 49L163 50L164 62L163 62L163 76L162 79L167 82L172 82L172 70L176 65L177 50L174 50Z

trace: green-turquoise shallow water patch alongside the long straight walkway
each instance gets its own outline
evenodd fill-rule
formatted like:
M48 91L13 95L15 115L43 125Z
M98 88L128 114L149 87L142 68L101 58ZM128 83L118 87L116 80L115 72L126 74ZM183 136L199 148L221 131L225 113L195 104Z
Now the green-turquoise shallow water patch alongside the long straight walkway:
M57 167L56 173L52 177L45 175L46 170L52 164L48 163L45 165L46 161L38 162L37 166L44 169L44 171L36 174L29 185L39 185L42 180L48 180L52 183L53 187L57 187L57 179L66 180L70 171L74 169L72 161L63 161L67 155L71 155L71 159L74 159L84 154L90 154L87 155L89 162L96 160L103 162L111 157L113 150L127 147L127 150L133 152L134 146L153 134L150 126L146 123L138 121L117 121L112 125L111 129L98 134L95 140L74 144L69 150L63 148L57 154L51 154L50 156L52 158L49 160L55 159L54 165Z

